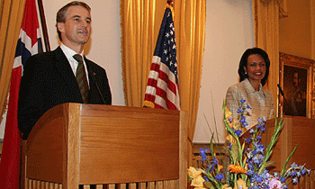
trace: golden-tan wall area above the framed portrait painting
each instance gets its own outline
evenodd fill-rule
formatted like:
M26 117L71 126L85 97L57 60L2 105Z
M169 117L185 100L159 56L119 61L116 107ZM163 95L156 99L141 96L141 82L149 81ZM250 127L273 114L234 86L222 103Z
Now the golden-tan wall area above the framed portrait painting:
M288 17L280 19L280 51L302 58L314 58L313 13L314 0L288 0Z

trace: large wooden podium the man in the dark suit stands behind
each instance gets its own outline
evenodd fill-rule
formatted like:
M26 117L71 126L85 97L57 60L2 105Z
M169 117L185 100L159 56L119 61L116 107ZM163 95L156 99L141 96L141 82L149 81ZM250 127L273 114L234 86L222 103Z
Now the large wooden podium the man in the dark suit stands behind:
M184 112L64 103L23 145L23 187L186 188ZM25 185L24 185L25 184Z

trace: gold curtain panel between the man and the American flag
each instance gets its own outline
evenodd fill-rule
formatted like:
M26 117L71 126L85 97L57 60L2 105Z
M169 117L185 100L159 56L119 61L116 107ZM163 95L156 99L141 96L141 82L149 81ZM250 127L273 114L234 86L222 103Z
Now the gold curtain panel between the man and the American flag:
M121 67L127 106L142 107L165 4L156 0L121 0ZM163 10L159 23L157 9Z

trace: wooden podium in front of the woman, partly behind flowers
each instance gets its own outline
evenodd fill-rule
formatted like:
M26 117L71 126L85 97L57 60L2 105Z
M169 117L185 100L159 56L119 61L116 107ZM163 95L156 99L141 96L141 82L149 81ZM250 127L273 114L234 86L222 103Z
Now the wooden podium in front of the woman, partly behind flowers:
M278 118L280 121L280 118ZM262 143L267 147L275 130L275 119L266 122L266 131L262 135ZM244 138L249 136L248 131ZM284 127L275 143L275 148L270 161L275 162L275 171L281 171L284 163L298 145L288 166L293 162L308 169L315 169L315 120L305 117L284 117ZM267 141L267 142L266 142Z

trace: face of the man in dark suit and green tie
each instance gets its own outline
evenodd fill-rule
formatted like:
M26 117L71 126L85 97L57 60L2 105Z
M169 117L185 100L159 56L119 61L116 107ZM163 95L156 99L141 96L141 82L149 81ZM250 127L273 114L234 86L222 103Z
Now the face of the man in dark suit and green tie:
M91 35L91 14L85 7L74 5L67 8L66 22L58 23L61 39L69 47L84 45Z

